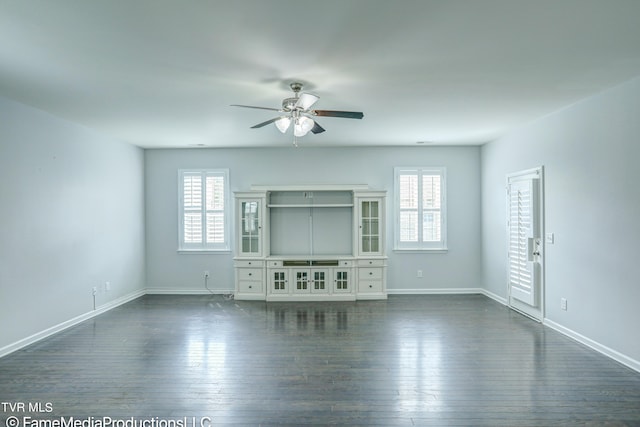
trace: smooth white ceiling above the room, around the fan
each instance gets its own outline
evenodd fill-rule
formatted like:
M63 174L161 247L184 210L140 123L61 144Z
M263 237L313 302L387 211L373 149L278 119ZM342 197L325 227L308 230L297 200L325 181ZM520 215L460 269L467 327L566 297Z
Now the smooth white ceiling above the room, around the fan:
M0 94L146 148L482 144L640 75L638 0L2 0Z

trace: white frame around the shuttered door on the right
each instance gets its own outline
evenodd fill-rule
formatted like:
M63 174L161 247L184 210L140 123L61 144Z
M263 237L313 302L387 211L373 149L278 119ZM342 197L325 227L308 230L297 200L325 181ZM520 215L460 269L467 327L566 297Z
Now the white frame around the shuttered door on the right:
M517 299L511 297L511 284L509 282L509 183L514 178L525 178L527 176L531 176L532 178L537 178L538 181L538 229L540 230L540 256L539 256L539 265L540 265L540 278L539 278L539 289L536 289L538 297L537 297L537 307L531 307L524 302L520 302ZM544 166L537 166L531 169L525 169L518 172L509 173L506 176L506 184L505 184L505 200L507 202L506 206L506 242L505 249L507 254L507 306L512 310L515 310L521 314L524 314L527 317L532 318L533 320L542 323L544 319L544 311L545 311L545 229L544 229Z

